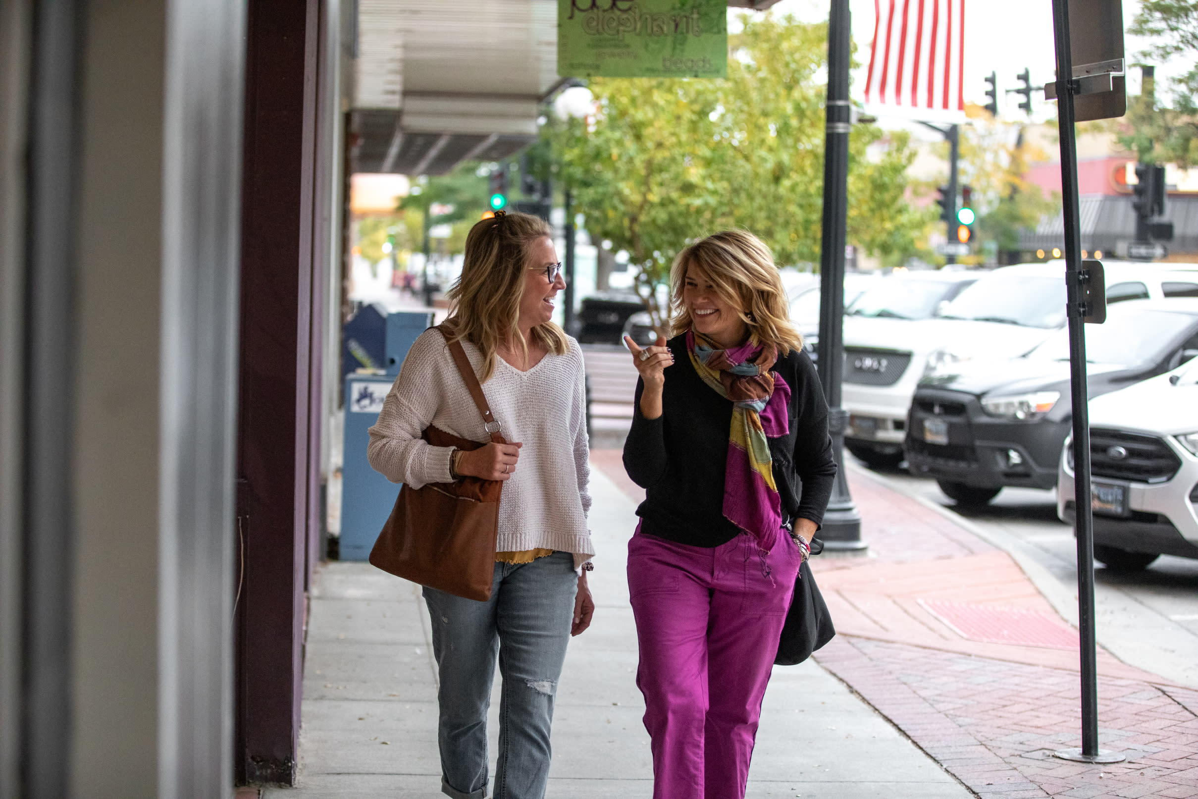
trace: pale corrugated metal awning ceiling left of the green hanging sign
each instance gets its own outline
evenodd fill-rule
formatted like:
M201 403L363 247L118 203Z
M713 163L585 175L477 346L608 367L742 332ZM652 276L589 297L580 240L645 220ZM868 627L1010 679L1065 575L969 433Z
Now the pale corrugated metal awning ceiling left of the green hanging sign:
M776 0L730 0L767 8ZM443 174L537 138L557 0L358 0L352 170Z

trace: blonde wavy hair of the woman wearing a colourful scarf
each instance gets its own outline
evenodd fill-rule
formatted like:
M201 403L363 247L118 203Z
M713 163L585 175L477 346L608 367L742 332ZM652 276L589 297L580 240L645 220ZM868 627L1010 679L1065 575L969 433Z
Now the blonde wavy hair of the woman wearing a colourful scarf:
M720 299L737 310L755 345L772 344L779 357L803 347L803 337L791 323L774 254L748 230L724 230L678 253L670 270L671 335L686 332L694 323L683 302L686 268L691 266L707 276Z

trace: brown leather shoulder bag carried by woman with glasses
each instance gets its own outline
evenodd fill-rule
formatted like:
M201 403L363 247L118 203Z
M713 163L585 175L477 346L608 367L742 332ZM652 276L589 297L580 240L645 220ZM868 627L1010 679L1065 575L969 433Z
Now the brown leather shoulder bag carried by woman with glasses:
M448 346L483 414L491 442L507 443L461 343L450 341ZM431 424L420 437L434 447L456 447L466 452L486 446L459 438ZM491 598L495 574L502 489L502 480L477 477L464 477L456 483L430 483L419 489L405 483L370 552L370 564L422 586L486 601Z

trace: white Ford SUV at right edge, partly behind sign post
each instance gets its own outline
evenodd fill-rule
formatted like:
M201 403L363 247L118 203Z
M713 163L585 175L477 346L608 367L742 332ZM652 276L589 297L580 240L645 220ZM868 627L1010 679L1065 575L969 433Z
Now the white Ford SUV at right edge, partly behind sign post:
M1072 446L1057 483L1057 515L1067 522ZM1198 358L1090 400L1090 472L1096 561L1135 570L1158 555L1198 558Z

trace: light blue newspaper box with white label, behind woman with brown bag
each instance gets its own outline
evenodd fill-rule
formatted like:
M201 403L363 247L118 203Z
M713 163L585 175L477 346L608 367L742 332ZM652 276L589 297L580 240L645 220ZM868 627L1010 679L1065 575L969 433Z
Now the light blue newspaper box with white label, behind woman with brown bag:
M367 432L379 419L387 392L416 338L428 329L430 314L400 313L387 316L383 375L350 373L345 375L345 425L341 461L341 537L343 561L370 557L379 531L387 522L399 496L399 485L370 468L367 460Z

